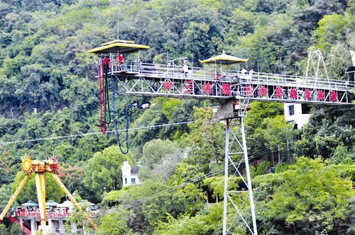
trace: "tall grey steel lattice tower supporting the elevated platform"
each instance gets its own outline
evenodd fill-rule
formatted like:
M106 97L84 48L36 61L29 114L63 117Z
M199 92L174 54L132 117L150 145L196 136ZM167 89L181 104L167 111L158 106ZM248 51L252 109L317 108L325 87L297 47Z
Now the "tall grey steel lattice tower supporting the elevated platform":
M255 206L253 200L253 189L251 185L251 176L249 169L249 157L248 151L246 148L246 135L244 132L244 117L246 115L246 111L249 109L249 98L243 98L234 105L234 117L226 118L226 146L225 146L225 156L224 156L224 205L223 205L223 234L226 235L229 233L230 229L236 222L238 217L244 222L246 226L246 231L249 231L253 235L258 234L258 230L256 227L256 213ZM228 105L222 106L222 109L230 108ZM223 110L222 110L223 112ZM226 110L228 113L228 110ZM238 130L239 133L236 132L233 128L231 128L231 122L233 120L238 120ZM229 164L230 163L230 164ZM229 169L229 166L232 166L232 171ZM243 174L242 170L245 168L245 174ZM238 188L234 188L233 183L236 178L240 178L241 183ZM243 198L242 203L239 205L235 200L235 196L238 197L241 195ZM248 206L248 198L249 198L249 206ZM239 198L240 199L240 198ZM229 205L229 206L228 206ZM228 208L234 210L228 210ZM247 221L244 210L250 209L251 213L251 221ZM228 212L236 212L234 219L228 224ZM252 226L251 226L252 225Z

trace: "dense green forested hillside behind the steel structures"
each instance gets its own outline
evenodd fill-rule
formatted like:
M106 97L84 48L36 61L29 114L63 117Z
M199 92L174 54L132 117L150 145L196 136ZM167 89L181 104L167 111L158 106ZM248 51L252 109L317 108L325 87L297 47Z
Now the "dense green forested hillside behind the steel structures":
M125 108L143 101L155 105L132 110L131 127L195 121L131 131L121 154L112 132L99 133L97 56L87 50L119 38L151 46L144 62L200 66L225 51L249 58L248 69L293 75L321 50L340 80L355 50L354 0L6 0L0 16L0 210L23 178L21 158L54 155L70 192L100 205L99 234L221 234L225 136L204 108L217 103L120 97L120 128ZM355 234L354 111L314 105L294 130L283 104L251 103L259 234ZM142 185L122 188L123 161L141 164ZM65 200L53 185L46 199ZM33 189L31 178L16 203L37 200ZM0 224L0 234L11 229ZM232 230L246 234L239 222Z

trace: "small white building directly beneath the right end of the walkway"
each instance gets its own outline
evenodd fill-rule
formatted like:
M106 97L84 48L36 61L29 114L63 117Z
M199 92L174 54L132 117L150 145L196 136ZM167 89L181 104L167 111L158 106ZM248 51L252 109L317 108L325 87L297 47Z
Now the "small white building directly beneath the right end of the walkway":
M302 128L310 120L310 107L305 103L284 103L285 120Z

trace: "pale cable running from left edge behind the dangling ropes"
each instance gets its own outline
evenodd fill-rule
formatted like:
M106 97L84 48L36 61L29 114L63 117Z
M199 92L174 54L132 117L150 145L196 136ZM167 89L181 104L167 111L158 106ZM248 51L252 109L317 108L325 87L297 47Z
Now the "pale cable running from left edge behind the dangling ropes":
M185 122L175 122L175 123L168 123L168 124L161 124L161 125L153 125L153 126L148 126L148 127L134 127L134 128L129 128L129 130L143 130L143 129L153 129L153 128L161 128L161 127L173 127L175 125L185 125L188 123L195 122L193 121L185 121ZM123 132L126 129L121 129L119 132ZM113 133L116 132L115 130L110 130L107 133ZM6 145L6 144L18 144L18 143L24 143L24 142L37 142L37 141L42 141L42 140L49 140L49 139L65 139L65 138L72 138L72 137L82 137L86 135L95 135L95 134L102 134L102 132L89 132L89 133L84 133L84 134L70 134L70 135L63 135L59 137L44 137L44 138L38 138L38 139L23 139L23 140L15 140L15 141L9 141L9 142L0 142L0 145Z

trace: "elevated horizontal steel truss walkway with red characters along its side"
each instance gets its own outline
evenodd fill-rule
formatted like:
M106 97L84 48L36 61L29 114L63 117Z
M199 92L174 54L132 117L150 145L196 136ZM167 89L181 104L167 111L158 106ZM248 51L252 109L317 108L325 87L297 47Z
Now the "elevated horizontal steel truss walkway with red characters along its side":
M112 73L111 73L112 71ZM349 91L354 81L321 79L285 74L241 74L221 69L190 67L187 74L167 64L130 62L121 71L112 66L109 74L115 80L116 93L130 96L165 96L226 100L234 96L250 100L292 103L351 103Z

